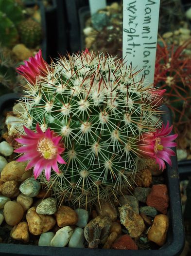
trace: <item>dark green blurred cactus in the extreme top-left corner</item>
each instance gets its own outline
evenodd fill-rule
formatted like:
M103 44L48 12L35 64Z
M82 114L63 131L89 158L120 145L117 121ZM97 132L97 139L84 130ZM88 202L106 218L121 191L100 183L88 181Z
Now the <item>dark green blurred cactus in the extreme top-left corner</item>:
M23 20L22 8L15 0L0 0L0 11L6 14L15 25Z

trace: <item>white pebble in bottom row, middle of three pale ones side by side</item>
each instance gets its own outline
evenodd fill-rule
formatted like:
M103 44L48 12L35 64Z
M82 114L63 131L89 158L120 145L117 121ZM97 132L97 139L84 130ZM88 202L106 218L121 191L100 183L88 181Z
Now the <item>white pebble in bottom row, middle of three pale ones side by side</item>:
M73 229L69 226L59 229L51 240L51 246L65 247L72 234Z

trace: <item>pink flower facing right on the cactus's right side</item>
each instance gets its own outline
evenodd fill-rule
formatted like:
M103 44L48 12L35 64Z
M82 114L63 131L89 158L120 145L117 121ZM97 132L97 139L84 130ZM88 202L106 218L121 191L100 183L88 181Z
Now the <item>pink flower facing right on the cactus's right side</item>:
M140 144L138 145L139 153L146 158L155 158L156 163L162 171L165 168L165 162L172 166L171 156L175 156L171 149L176 146L173 142L177 138L177 134L169 135L173 129L173 125L169 127L167 122L166 127L162 125L161 129L157 129L153 133L143 133Z

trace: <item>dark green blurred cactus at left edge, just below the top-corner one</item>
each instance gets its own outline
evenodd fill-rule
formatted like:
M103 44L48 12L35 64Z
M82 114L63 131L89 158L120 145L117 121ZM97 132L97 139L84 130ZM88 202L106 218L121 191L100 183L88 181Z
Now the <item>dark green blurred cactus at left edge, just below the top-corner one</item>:
M18 40L18 32L14 23L0 11L0 42L2 45L12 47Z

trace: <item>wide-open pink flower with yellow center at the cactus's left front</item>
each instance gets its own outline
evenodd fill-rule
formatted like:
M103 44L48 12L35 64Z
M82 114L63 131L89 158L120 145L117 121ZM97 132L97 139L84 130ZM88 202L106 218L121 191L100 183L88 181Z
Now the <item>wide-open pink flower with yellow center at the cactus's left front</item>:
M21 135L16 141L23 144L16 149L16 153L24 153L17 161L27 161L26 170L34 167L34 176L37 178L43 170L45 170L45 177L47 180L51 177L51 169L56 173L60 173L57 163L66 163L60 154L64 152L62 144L59 143L62 137L55 136L50 128L45 133L40 129L39 124L36 124L36 133L24 126L26 135Z

